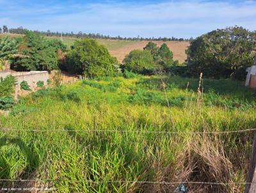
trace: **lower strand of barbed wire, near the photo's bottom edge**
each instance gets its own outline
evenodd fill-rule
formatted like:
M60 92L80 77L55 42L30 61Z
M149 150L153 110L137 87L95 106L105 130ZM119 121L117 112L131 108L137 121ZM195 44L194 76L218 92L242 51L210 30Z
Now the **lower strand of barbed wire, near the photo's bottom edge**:
M52 179L36 179L36 180L22 180L22 179L0 179L0 181L24 181L24 182L44 182L44 181L68 181L68 182L89 182L89 183L155 183L155 184L164 184L164 185L175 185L175 184L181 184L181 183L189 183L189 184L209 184L209 185L232 185L232 184L253 184L256 182L207 182L207 181L125 181L125 180L116 180L116 181L92 181L92 180L52 180Z

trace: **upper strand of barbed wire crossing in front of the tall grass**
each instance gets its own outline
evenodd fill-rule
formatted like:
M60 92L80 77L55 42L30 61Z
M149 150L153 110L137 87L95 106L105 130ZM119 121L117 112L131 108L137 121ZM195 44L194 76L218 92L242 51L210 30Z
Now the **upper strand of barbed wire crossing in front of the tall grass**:
M68 130L68 129L15 129L15 128L0 128L6 131L31 131L31 132L121 132L121 133L148 133L148 134L230 134L240 132L256 131L256 128L249 128L244 130L230 130L230 131L216 131L216 132L171 132L171 131L150 131L150 130L108 130L108 129L83 129L83 130Z

